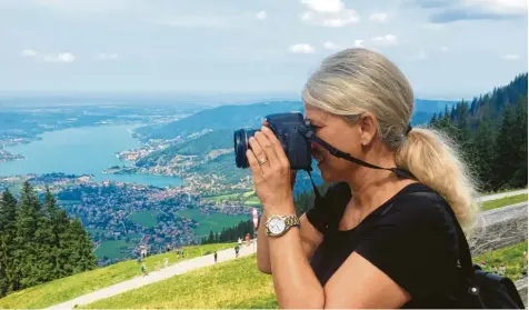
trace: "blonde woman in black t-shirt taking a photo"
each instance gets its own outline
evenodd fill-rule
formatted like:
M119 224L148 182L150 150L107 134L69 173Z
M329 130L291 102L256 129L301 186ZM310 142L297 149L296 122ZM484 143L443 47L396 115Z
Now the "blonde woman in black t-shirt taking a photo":
M477 191L447 138L409 127L413 94L401 71L373 51L345 50L322 62L302 98L319 139L412 176L337 158L312 143L323 180L336 186L301 216L299 228L270 237L270 228L259 227L258 268L272 273L279 307L453 307L458 247L447 208L468 236L479 211ZM261 223L295 216L278 139L263 127L249 143Z

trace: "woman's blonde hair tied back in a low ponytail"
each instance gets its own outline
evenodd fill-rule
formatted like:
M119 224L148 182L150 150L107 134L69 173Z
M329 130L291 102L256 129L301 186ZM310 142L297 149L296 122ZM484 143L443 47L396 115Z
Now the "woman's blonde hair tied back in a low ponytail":
M413 91L389 59L367 49L332 54L309 78L302 98L350 122L358 121L361 112L373 113L383 143L396 151L397 167L441 194L469 237L480 211L477 182L449 137L428 128L413 128L406 134Z

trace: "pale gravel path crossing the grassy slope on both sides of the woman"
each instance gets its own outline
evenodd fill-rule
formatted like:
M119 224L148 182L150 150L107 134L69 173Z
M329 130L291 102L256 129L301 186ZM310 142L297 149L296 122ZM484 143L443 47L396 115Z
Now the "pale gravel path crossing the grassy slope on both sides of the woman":
M517 196L517 194L522 194L527 193L528 190L517 190L517 191L511 191L511 192L502 192L502 193L495 193L490 196L485 196L480 198L480 201L489 201L489 200L496 200L496 199L501 199L505 197L510 197L510 196ZM526 207L527 208L527 207ZM252 246L246 247L242 246L241 250L239 252L239 257L247 257L251 253L254 252L254 246L256 243L252 242ZM236 259L236 253L234 249L227 249L222 251L218 251L218 262L222 261L228 261ZM158 281L162 281L166 279L169 279L171 277L182 274L184 272L198 269L198 268L203 268L207 266L214 264L214 259L213 254L208 254L203 257L198 257L189 260L184 260L178 263L174 263L172 266L169 266L168 268L163 268L160 271L153 271L150 272L149 276L147 277L137 277L117 284L113 284L111 287L100 289L93 292L90 292L88 294L78 297L76 299L69 300L63 303L59 303L56 306L52 306L47 309L73 309L76 306L81 306L81 304L88 304L94 301L98 301L100 299L106 299L116 294L120 294L122 292L133 290L137 288L141 288L143 286L148 286ZM139 269L139 268L138 268ZM139 270L138 270L139 272Z

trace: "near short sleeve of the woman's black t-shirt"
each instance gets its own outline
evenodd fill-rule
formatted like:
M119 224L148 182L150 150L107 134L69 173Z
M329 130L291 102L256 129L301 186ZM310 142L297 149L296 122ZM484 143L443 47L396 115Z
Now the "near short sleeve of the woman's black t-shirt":
M457 280L457 234L447 207L423 197L397 199L355 250L412 299L448 292Z

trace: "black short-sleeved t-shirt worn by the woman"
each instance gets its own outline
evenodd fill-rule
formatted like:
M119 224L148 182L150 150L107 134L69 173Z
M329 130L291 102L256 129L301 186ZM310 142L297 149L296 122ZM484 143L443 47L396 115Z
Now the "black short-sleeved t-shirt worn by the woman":
M349 186L339 183L325 196L331 221L311 266L322 286L355 251L403 288L411 300L402 308L452 308L458 281L458 241L453 221L441 196L412 183L371 212L356 228L338 230L351 198ZM351 274L353 277L353 274Z

